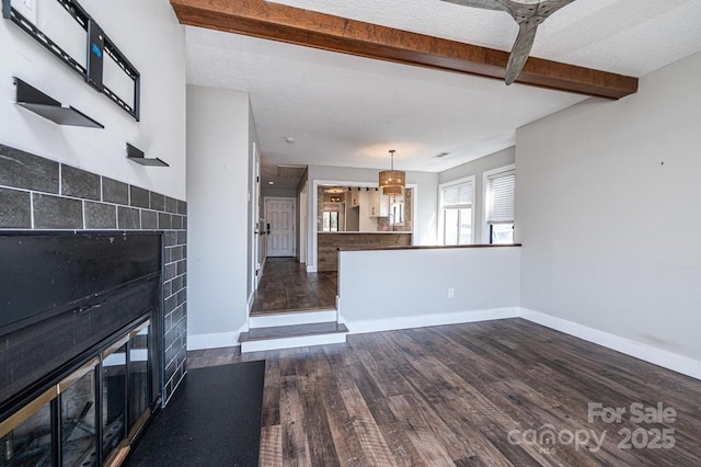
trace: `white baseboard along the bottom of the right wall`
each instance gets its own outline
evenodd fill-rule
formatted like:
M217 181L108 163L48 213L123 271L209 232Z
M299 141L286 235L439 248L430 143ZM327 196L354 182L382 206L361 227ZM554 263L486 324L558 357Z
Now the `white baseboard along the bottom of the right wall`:
M701 361L528 308L520 309L520 317L547 328L564 332L565 334L574 335L575 338L653 363L663 368L701 379Z

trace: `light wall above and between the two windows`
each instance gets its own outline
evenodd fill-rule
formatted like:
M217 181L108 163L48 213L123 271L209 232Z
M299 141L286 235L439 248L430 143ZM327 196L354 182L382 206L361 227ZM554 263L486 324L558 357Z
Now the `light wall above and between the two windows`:
M472 205L474 226L472 226L472 230L475 243L484 243L484 172L499 169L514 162L516 162L516 148L510 147L438 174L439 184L474 175L474 203Z

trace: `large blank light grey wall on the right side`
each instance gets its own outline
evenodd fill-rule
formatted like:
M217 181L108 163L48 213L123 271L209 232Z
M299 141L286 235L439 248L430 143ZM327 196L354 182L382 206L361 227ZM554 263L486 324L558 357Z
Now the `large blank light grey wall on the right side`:
M701 358L700 76L696 54L517 132L524 307Z

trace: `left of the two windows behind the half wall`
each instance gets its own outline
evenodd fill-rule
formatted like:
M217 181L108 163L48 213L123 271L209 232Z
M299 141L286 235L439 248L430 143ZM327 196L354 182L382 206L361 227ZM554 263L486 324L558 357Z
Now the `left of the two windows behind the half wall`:
M443 244L472 243L474 176L440 185L439 236Z

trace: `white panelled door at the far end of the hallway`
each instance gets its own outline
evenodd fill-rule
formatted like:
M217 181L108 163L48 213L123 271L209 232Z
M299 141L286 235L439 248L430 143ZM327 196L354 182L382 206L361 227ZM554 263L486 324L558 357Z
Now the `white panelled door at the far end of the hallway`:
M268 257L295 255L295 198L265 198Z

